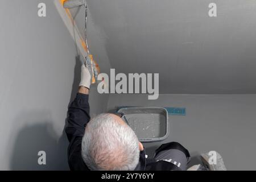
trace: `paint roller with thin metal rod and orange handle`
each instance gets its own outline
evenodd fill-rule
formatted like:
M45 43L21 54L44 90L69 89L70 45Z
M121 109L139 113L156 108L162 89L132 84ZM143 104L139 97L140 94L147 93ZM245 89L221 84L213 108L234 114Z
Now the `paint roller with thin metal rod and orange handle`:
M96 61L93 60L93 56L89 54L89 48L87 43L87 5L85 0L65 0L63 3L64 9L73 9L75 7L85 6L85 43L82 42L82 46L86 49L88 56L85 57L86 67L90 68L89 72L92 75L92 84L96 82L96 78L98 73L100 72L100 68ZM85 45L86 44L86 45Z

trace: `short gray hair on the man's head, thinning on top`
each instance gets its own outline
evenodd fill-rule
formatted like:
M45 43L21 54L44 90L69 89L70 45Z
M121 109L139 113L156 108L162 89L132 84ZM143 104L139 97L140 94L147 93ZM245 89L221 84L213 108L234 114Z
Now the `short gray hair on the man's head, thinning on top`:
M86 126L82 159L91 170L134 170L139 163L138 138L111 114L97 115Z

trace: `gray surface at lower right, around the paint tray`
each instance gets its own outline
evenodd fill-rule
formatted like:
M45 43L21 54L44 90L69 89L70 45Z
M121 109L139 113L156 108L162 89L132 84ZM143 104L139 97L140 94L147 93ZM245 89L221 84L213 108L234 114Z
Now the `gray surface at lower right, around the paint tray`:
M146 95L112 94L108 109L118 106L186 107L185 116L169 115L169 136L163 142L145 143L151 155L161 143L180 142L199 162L201 152L218 151L228 170L255 170L256 95Z

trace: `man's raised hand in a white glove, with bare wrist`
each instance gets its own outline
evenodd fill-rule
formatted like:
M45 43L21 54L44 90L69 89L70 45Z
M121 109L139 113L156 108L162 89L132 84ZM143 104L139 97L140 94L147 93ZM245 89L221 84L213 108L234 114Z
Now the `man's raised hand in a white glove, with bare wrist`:
M79 93L85 93L88 94L89 89L90 89L90 72L89 70L85 67L84 64L82 64L81 67L81 81L79 84Z

